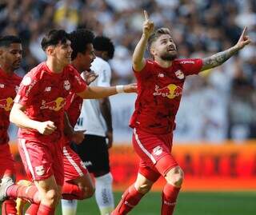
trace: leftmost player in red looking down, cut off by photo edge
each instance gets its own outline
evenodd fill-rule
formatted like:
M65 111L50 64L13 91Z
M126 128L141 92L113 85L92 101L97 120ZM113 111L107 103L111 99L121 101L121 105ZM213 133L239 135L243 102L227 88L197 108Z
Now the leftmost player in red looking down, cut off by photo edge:
M10 153L7 130L10 109L22 78L14 74L22 61L22 41L13 35L0 38L0 178L14 178L14 159ZM16 214L14 200L2 203L2 215Z

